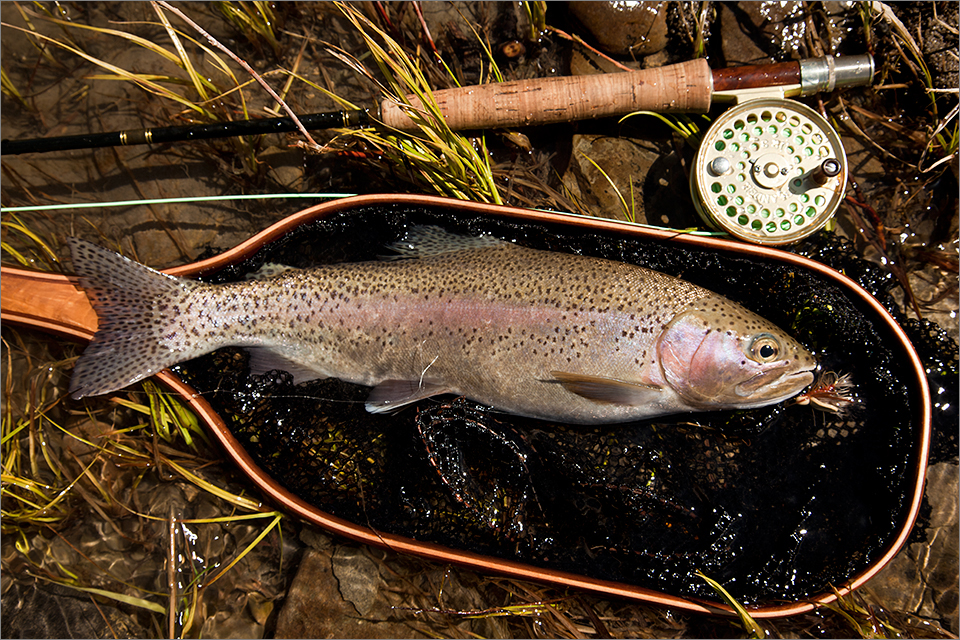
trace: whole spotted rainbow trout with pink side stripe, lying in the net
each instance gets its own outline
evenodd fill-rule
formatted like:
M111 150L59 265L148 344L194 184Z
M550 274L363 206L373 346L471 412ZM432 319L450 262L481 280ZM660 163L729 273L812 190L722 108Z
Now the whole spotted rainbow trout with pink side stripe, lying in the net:
M634 265L416 227L394 259L211 285L71 239L100 320L74 398L226 346L252 373L373 387L393 411L439 394L509 413L607 423L781 402L814 357L726 298Z

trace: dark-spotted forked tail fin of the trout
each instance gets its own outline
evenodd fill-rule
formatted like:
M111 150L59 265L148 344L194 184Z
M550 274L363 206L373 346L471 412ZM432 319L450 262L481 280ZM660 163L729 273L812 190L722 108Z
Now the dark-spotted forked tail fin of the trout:
M116 391L186 359L164 347L162 338L175 327L173 303L198 283L79 238L67 243L74 271L99 318L93 341L74 367L71 396Z

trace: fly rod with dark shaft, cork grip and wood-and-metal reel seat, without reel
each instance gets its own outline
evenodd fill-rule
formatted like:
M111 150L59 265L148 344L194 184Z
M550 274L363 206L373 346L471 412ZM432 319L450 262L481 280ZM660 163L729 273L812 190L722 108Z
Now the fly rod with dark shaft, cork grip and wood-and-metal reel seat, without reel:
M870 84L870 55L812 58L766 65L711 70L704 59L656 69L588 76L513 80L433 92L453 130L524 127L572 122L632 111L706 112L716 100L736 100L750 92L779 90L782 96L811 95L836 88ZM408 96L415 108L423 105ZM308 130L375 125L364 110L298 116ZM416 125L404 106L380 105L379 122L409 131ZM44 153L138 144L296 131L292 118L259 118L205 125L132 129L76 136L3 140L0 154Z

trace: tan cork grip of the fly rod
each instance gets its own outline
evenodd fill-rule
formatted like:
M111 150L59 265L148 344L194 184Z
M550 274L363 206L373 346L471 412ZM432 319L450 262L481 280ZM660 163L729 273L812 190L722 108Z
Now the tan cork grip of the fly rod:
M538 78L434 91L453 130L521 127L619 116L631 111L710 109L713 75L707 61L590 76ZM421 106L413 96L411 104ZM381 105L387 126L409 130L413 122L393 101Z

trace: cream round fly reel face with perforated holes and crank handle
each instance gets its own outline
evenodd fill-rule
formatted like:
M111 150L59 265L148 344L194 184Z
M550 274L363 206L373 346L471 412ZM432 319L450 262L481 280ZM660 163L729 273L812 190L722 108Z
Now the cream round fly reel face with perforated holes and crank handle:
M761 98L725 111L707 130L690 191L709 226L759 244L789 244L837 210L847 158L833 127L793 100Z

